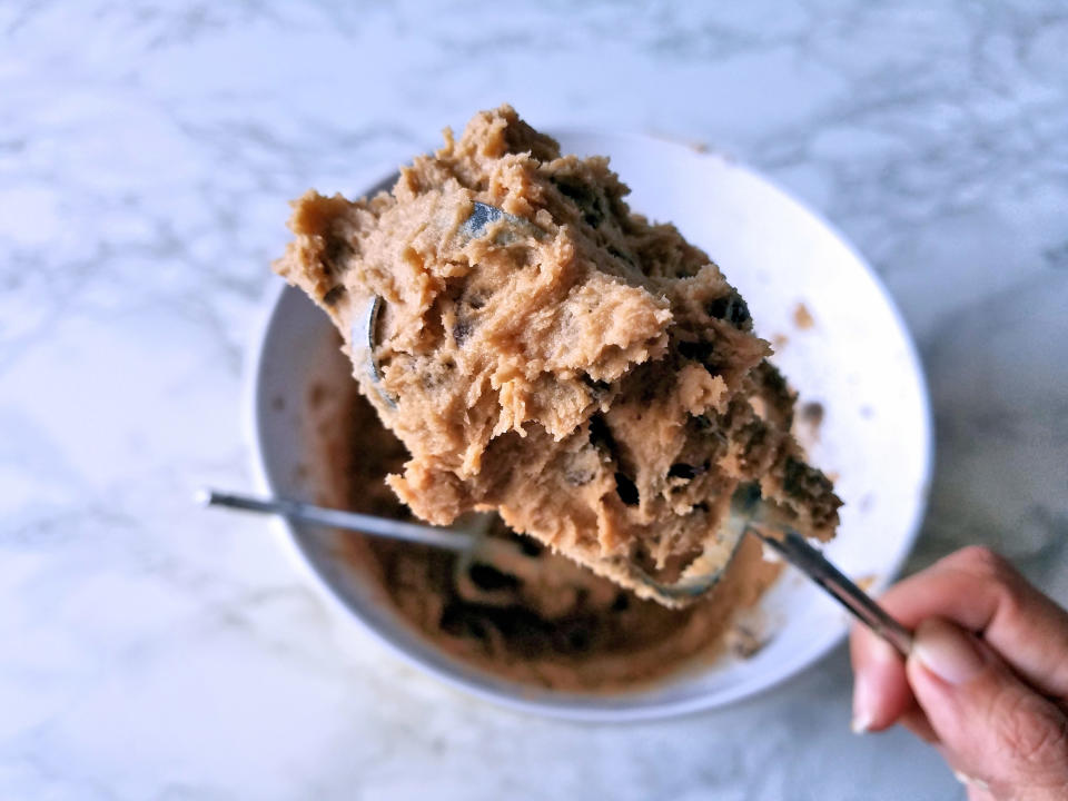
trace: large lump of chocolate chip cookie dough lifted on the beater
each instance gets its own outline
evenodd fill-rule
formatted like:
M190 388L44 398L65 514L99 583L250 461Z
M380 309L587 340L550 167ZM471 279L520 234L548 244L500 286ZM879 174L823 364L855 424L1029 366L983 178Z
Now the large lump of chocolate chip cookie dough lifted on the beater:
M562 156L504 106L392 192L306 194L275 268L357 363L353 325L384 299L378 378L356 376L411 454L388 481L416 515L496 511L647 596L625 565L678 576L740 482L811 536L840 501L790 435L795 397L745 301L626 194L607 159ZM476 202L507 216L471 236Z

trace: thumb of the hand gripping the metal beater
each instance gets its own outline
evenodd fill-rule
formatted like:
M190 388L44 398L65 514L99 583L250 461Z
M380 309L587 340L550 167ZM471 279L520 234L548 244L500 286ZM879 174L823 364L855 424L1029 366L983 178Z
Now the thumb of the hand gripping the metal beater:
M985 643L934 617L920 624L909 684L946 758L995 798L1065 798L1068 716Z

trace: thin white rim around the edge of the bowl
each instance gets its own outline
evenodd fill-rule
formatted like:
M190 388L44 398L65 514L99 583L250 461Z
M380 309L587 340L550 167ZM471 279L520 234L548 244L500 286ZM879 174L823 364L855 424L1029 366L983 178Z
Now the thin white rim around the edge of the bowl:
M729 166L731 169L746 172L749 174L750 178L754 178L767 184L770 188L782 195L787 200L799 206L801 210L813 217L819 225L824 227L827 231L847 249L854 261L868 274L869 279L872 281L879 295L882 297L882 300L887 305L894 324L902 335L909 367L917 378L917 389L921 412L920 419L922 425L921 446L923 448L923 459L920 475L918 503L913 518L910 521L908 532L906 536L902 537L902 544L897 557L892 563L888 564L887 568L880 574L880 581L878 582L877 587L884 587L890 581L900 574L901 568L903 567L916 544L917 538L919 537L920 530L928 510L931 491L931 476L934 464L934 422L931 411L930 392L927 383L927 376L924 374L923 364L920 359L916 343L912 339L911 332L906 325L904 318L898 308L893 296L887 289L878 273L876 273L876 270L860 254L860 251L857 250L852 243L820 212L802 202L792 192L788 191L778 182L768 178L765 175L745 164L738 161L733 157L722 151L695 151L692 146L686 144L679 142L670 138L646 136L642 134L607 132L595 129L567 127L553 127L548 129L548 132L554 138L602 137L606 139L614 138L631 140L635 144L644 142L657 147L666 146L671 148L679 148L689 151L689 154L694 157L718 160L725 166ZM395 176L396 172L394 171L390 175ZM376 188L385 185L389 180L389 176L386 176L377 181L368 181L367 186L370 188ZM269 285L265 291L257 320L250 330L249 345L245 352L246 358L244 360L243 368L244 375L241 377L244 395L241 400L241 418L244 437L248 446L249 467L251 471L255 490L265 494L271 493L273 488L267 475L266 461L264 458L264 452L259 441L259 432L263 429L263 421L260 416L263 404L259 403L259 388L261 383L260 377L265 368L264 346L267 342L267 335L274 325L275 317L279 310L280 301L287 291L298 290L290 287L284 280L278 280L273 285ZM332 610L336 617L344 619L347 621L347 625L354 626L355 629L362 630L364 633L369 634L374 640L385 645L387 651L398 656L404 663L418 669L421 672L435 676L448 686L516 712L533 713L542 716L587 723L622 723L663 720L668 718L693 714L711 709L718 709L765 693L773 688L777 688L787 681L799 676L824 659L831 651L837 649L849 632L849 625L847 621L847 625L843 625L834 633L833 636L828 636L821 641L817 641L813 647L798 652L795 659L783 664L783 670L778 671L777 673L754 676L751 680L741 681L732 688L718 690L714 693L694 695L693 698L664 700L660 702L652 701L646 705L633 706L612 706L607 703L604 705L599 705L595 703L599 696L594 694L548 692L546 694L557 695L558 700L551 698L531 698L525 696L521 690L507 692L497 688L487 686L479 683L474 678L453 673L437 664L432 664L419 659L399 642L394 641L385 632L379 631L376 626L372 625L367 620L358 614L356 610L346 603L346 601L338 594L337 590L335 590L335 587L315 568L310 560L307 558L300 547L297 531L288 521L274 518L270 521L269 525L274 528L276 538L279 541L283 550L288 555L289 561L294 564L297 572L304 576L304 578L315 589L319 597L324 599L326 605ZM576 704L575 701L580 698L582 699L582 704ZM605 702L611 702L613 699L619 700L620 698L620 694L605 694L603 696Z

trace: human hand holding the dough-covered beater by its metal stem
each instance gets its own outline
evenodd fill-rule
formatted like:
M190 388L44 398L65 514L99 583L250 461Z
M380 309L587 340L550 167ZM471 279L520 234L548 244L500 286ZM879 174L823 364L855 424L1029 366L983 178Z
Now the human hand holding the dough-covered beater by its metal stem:
M972 801L1068 799L1068 612L975 546L880 603L916 637L902 661L853 629L853 730L901 723L939 750Z

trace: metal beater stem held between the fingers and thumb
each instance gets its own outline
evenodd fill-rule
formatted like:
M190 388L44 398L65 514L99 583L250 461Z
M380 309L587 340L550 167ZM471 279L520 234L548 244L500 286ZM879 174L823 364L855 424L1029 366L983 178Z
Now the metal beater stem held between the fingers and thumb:
M755 526L751 531L787 562L830 593L861 623L893 645L902 656L909 655L912 650L912 633L828 562L822 553L809 545L804 537L794 531L787 531L782 537L763 534Z

